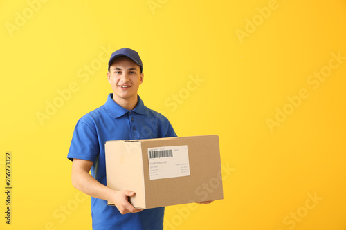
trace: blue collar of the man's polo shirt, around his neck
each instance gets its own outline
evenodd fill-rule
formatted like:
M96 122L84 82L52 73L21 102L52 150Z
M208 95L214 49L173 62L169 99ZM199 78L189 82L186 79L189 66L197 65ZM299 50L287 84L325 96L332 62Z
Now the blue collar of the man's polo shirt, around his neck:
M137 95L137 97L138 97L137 106L133 110L131 110L131 112L135 112L138 114L145 114L144 103L142 99L140 99L139 95ZM113 93L109 93L107 97L107 101L104 104L104 106L114 119L121 117L122 115L125 115L126 113L130 112L128 109L122 108L116 102L114 102Z

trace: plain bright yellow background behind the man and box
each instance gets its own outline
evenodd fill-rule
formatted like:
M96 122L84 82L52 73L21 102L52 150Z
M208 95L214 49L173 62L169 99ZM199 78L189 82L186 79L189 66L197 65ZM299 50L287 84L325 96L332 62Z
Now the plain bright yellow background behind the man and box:
M0 1L3 191L12 152L0 228L91 229L66 154L77 120L111 93L104 50L129 47L145 105L179 136L219 135L228 169L224 200L167 207L166 230L345 230L345 26L344 0Z

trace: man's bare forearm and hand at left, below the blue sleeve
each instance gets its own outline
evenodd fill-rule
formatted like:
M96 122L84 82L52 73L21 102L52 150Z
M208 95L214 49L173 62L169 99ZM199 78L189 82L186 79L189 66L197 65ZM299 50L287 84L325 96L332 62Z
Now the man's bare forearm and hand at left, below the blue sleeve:
M109 200L122 214L141 211L141 209L135 209L128 201L129 196L135 195L133 191L116 191L104 186L89 174L91 166L93 162L89 160L73 159L72 184L76 189L94 198Z

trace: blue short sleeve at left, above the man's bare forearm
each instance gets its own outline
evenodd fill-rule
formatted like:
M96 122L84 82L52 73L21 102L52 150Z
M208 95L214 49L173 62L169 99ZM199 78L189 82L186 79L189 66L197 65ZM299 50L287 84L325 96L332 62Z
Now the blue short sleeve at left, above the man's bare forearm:
M98 135L94 125L80 119L73 131L73 137L67 158L95 161L100 153Z

